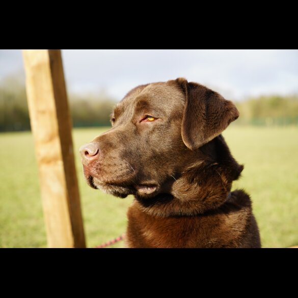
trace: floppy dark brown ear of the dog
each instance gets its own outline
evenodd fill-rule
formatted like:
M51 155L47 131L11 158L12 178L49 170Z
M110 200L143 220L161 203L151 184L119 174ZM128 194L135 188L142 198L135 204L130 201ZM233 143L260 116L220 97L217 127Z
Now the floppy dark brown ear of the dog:
M191 150L198 149L225 130L239 117L236 106L220 94L197 84L177 78L177 84L185 93L185 105L181 135Z

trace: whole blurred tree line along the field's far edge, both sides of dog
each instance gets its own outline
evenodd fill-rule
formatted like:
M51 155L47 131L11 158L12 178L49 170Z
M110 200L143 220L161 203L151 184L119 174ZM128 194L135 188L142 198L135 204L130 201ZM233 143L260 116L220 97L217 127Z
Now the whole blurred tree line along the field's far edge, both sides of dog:
M110 125L116 101L104 92L69 94L74 127ZM235 102L240 117L234 125L298 126L298 94L260 96ZM23 80L9 76L0 82L0 131L29 130L30 118Z

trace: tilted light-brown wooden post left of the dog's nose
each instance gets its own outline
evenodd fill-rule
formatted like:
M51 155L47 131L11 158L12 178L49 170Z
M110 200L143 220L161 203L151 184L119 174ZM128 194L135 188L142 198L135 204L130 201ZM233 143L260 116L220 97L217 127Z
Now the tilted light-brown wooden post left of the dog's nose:
M48 247L84 248L60 50L23 50Z

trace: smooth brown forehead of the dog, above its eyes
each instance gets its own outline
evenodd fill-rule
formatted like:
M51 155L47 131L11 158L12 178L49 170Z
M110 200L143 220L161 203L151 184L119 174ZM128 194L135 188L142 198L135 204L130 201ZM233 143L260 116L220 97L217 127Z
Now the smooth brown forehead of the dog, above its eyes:
M184 94L173 84L168 82L152 83L138 86L127 93L127 95L116 105L115 114L122 114L124 111L132 111L138 105L144 103L151 107L171 109L171 106L184 104Z

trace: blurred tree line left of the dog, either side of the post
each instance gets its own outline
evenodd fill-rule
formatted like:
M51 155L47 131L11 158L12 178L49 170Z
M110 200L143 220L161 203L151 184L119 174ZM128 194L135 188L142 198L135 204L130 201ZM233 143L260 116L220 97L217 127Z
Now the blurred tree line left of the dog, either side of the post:
M116 101L104 92L69 93L74 127L110 125L110 114ZM0 131L29 130L30 118L25 86L21 78L11 76L0 82Z

